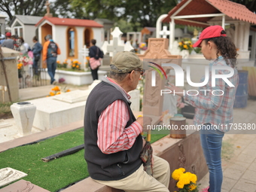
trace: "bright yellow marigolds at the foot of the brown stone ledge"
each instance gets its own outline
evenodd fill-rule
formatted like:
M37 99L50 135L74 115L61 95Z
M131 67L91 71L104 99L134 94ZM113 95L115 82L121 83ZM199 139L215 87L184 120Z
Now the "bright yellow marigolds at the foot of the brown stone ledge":
M185 172L184 168L175 169L172 172L172 178L177 182L176 186L179 192L198 192L197 189L197 175Z

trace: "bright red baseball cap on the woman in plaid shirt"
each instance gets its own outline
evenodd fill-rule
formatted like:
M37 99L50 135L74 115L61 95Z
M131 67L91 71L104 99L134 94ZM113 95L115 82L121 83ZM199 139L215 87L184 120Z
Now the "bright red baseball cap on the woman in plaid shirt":
M209 26L206 29L203 29L199 40L193 44L193 47L201 47L201 42L206 38L226 37L226 34L221 34L222 31L224 31L224 29L221 26Z

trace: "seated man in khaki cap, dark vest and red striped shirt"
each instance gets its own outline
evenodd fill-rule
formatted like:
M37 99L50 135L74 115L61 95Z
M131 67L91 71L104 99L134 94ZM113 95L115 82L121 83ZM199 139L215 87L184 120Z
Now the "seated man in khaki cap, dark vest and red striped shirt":
M131 90L145 72L132 52L114 55L109 78L103 78L90 92L84 114L84 158L94 181L134 191L168 192L170 167L152 154L142 128L150 117L134 117ZM153 175L153 176L152 176Z

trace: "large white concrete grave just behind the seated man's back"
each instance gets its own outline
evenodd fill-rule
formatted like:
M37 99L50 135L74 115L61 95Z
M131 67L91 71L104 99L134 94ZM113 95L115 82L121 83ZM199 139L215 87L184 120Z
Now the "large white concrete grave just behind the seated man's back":
M75 91L74 91L75 92ZM72 93L72 92L71 92ZM84 119L84 106L88 92L75 92L76 98L61 96L50 96L41 99L33 99L32 102L36 106L35 119L33 127L39 130L50 130L58 126L65 126L69 123ZM63 95L67 93L62 93ZM61 94L61 95L62 95ZM62 101L60 101L60 100ZM84 99L84 100L83 100Z

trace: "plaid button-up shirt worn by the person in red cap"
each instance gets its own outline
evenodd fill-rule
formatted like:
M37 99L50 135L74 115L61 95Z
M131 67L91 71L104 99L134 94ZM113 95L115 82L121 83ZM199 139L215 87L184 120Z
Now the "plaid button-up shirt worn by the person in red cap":
M218 130L227 132L230 128L229 123L233 123L233 104L235 101L236 88L239 83L239 76L236 69L234 69L234 75L228 80L235 86L230 87L222 78L216 78L215 87L212 87L212 66L227 66L223 56L219 56L218 59L210 62L209 64L209 82L200 87L199 95L189 96L185 95L184 100L193 105L196 108L194 116L194 124L202 125L203 123L212 123L217 126ZM215 71L216 74L229 74L230 71L220 69ZM200 82L203 82L204 77ZM222 96L221 91L224 92ZM212 94L212 91L215 95Z

